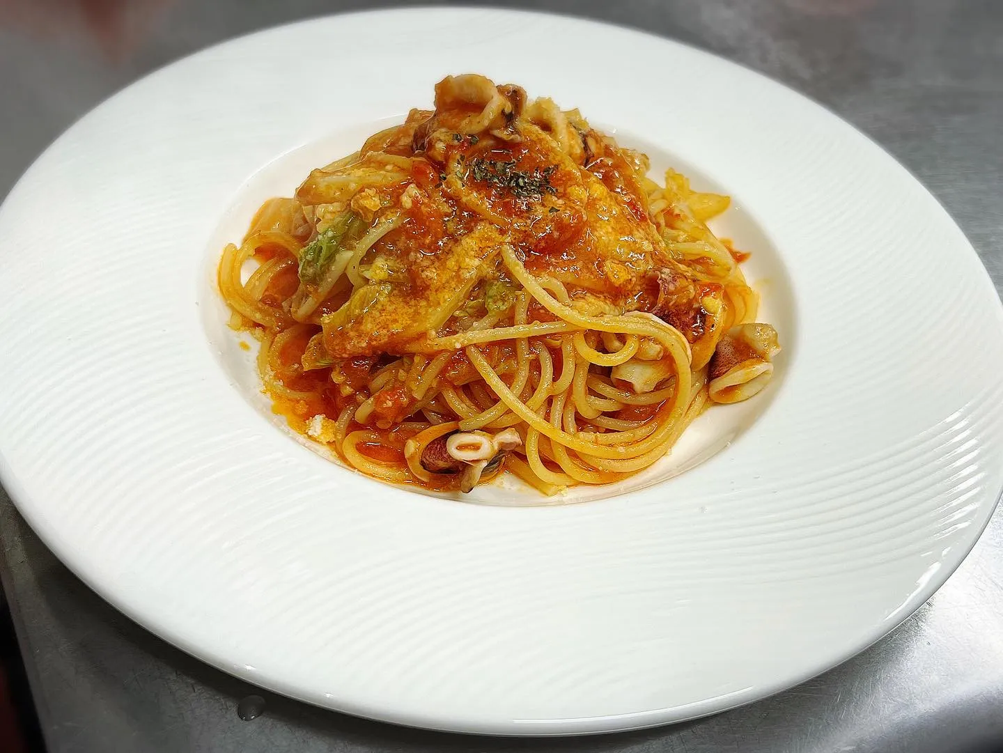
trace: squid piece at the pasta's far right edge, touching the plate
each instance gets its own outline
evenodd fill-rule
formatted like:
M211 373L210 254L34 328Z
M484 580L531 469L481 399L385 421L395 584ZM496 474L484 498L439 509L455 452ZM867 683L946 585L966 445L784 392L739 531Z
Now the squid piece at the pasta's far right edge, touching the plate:
M776 330L768 324L743 324L728 330L710 359L708 397L715 403L752 397L769 382L773 375L770 359L779 352Z

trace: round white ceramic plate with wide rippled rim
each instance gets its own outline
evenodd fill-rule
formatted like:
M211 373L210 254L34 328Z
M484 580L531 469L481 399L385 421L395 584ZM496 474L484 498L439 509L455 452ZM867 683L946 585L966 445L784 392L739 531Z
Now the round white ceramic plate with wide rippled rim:
M214 270L257 203L465 71L733 197L716 230L753 254L776 378L630 483L472 504L362 477L269 417L226 327ZM906 618L1003 485L1003 315L954 223L821 107L638 32L421 9L214 47L38 159L0 263L2 478L31 525L158 636L352 714L566 734L751 701Z

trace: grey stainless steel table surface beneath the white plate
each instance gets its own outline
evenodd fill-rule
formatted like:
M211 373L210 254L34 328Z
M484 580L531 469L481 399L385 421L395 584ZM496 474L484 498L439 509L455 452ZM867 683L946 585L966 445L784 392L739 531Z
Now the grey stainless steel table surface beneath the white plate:
M0 196L74 118L148 70L236 34L369 5L0 0ZM1003 288L1003 2L532 5L689 42L822 102L931 189L982 255L997 290ZM3 585L53 753L418 753L524 745L624 753L1003 750L1003 508L927 605L814 680L686 724L530 743L397 728L257 691L105 605L56 560L2 492L0 540ZM264 713L243 721L238 703L254 693L264 697Z

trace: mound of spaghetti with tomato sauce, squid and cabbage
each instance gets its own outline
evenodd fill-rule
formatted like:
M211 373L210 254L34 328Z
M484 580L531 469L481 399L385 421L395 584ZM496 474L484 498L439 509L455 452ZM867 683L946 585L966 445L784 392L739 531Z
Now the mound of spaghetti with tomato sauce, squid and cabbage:
M779 350L726 197L477 75L266 202L219 269L274 409L393 483L545 494L664 456ZM250 276L249 268L254 268Z

